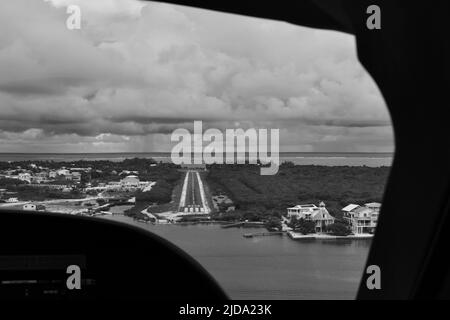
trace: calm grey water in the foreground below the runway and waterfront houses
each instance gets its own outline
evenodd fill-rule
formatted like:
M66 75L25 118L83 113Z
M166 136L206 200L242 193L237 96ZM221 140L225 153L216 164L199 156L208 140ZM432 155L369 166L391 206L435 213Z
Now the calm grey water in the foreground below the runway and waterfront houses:
M370 247L370 240L246 239L244 233L256 230L148 225L124 216L107 219L131 223L173 242L200 262L233 299L352 299Z

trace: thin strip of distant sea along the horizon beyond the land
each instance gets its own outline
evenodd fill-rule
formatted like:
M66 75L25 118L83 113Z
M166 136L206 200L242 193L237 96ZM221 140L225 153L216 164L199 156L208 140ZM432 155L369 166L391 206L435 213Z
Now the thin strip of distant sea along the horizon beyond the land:
M77 161L110 160L123 161L129 158L153 158L156 161L171 162L168 152L147 153L0 153L0 161ZM290 161L297 165L323 166L391 166L392 153L318 153L281 152L280 162Z

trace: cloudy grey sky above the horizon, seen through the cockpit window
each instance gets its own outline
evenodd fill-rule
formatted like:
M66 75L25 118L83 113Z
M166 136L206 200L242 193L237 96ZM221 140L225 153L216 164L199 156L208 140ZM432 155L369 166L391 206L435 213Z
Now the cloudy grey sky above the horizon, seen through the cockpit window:
M1 1L0 30L0 152L170 151L194 120L279 128L281 151L393 150L348 35L135 0Z

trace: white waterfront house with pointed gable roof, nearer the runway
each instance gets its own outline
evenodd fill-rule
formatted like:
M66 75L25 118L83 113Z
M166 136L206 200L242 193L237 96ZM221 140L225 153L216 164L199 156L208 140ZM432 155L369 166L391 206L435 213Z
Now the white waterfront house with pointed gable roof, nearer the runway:
M287 209L288 218L312 220L316 223L316 232L325 232L326 226L334 223L333 216L328 212L325 203L320 202L317 207L315 204L299 204Z

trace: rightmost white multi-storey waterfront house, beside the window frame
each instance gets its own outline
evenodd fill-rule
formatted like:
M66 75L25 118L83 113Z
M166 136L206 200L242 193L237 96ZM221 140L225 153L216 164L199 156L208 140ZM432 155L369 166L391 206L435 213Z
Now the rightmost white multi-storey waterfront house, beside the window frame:
M366 203L363 206L349 204L342 209L344 219L351 225L355 234L374 233L380 212L381 203Z

